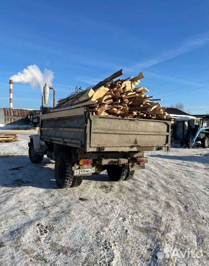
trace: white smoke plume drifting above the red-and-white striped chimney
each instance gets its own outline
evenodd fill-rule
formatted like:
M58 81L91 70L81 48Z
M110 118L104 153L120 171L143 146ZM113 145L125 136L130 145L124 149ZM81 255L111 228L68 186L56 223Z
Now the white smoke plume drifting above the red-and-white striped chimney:
M40 68L36 65L28 66L22 72L18 72L16 75L10 77L13 82L29 83L33 88L39 85L41 90L46 82L51 87L53 78L54 72L52 70L45 68L41 72Z

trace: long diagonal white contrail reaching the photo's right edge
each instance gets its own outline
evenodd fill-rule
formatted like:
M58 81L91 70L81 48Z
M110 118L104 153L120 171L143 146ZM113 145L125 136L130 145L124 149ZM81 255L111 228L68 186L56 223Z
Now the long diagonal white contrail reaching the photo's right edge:
M127 72L133 72L136 69L142 70L142 69L147 68L149 66L156 65L156 64L164 62L168 59L172 59L176 56L190 52L190 51L192 51L198 47L201 47L207 43L209 43L209 32L196 35L196 36L194 36L193 39L190 39L190 40L182 43L176 49L167 51L165 53L160 54L159 56L156 56L155 58L142 61L141 63L136 63L133 66L127 67L125 70Z

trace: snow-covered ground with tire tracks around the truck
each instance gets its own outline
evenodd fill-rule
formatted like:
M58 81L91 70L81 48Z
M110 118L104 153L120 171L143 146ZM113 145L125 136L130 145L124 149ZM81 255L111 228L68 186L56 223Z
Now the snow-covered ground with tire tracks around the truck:
M0 143L0 266L209 265L209 149L148 152L133 180L61 190L28 135Z

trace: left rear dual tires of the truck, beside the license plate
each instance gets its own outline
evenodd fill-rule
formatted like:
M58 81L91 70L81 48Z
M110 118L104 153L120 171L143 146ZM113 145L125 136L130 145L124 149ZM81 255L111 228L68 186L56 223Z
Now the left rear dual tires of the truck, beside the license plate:
M82 183L82 176L74 176L70 157L67 153L58 154L55 161L55 180L59 188L78 187Z

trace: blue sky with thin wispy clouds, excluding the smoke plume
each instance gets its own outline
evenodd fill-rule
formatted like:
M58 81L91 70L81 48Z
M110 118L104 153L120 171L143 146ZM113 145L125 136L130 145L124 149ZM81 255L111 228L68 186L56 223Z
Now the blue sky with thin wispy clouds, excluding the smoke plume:
M29 65L54 71L57 98L123 68L164 106L209 111L208 0L1 0L0 107L9 77ZM40 88L14 84L14 107L38 108Z

